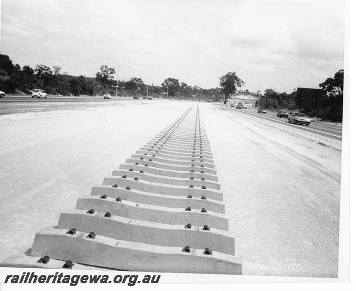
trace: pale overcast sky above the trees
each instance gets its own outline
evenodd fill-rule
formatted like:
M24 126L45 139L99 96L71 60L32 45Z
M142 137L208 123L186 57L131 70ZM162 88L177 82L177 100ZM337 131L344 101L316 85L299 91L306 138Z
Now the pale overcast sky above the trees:
M318 88L343 68L342 0L2 0L0 53L95 77L203 88L236 71L243 88ZM116 79L116 76L115 76Z

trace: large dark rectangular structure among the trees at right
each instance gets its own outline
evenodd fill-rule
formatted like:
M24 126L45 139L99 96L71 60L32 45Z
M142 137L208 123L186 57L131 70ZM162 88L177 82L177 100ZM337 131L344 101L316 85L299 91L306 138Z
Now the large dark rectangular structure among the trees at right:
M295 105L299 109L317 109L322 106L323 89L298 88Z

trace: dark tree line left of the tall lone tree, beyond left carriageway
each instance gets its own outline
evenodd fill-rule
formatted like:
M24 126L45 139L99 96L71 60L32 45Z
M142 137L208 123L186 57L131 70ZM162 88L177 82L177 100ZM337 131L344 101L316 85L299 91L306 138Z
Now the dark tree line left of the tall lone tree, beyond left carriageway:
M60 66L36 65L34 68L14 64L9 56L0 54L0 89L7 94L31 94L33 89L43 89L49 95L102 96L110 94L119 97L146 96L175 97L179 99L219 100L220 88L204 89L179 82L175 78L165 79L161 86L145 84L141 78L129 81L114 80L115 69L102 65L95 78L70 76L62 73Z

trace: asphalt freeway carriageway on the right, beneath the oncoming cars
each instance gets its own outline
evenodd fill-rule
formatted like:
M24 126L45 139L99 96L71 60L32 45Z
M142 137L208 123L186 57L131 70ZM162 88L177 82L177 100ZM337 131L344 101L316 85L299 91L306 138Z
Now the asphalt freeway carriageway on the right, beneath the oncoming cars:
M337 125L332 125L332 124L324 124L322 122L311 122L310 125L307 126L303 126L303 125L296 125L296 124L290 124L288 123L287 118L278 118L275 114L276 113L267 113L267 114L263 114L263 113L257 113L257 111L255 111L256 109L235 109L232 107L229 107L229 109L231 110L235 110L238 112L242 112L244 114L250 114L253 116L257 116L266 120L270 120L273 122L278 122L281 124L285 124L286 126L290 126L290 127L298 127L299 129L302 130L307 130L309 132L313 132L319 135L323 135L332 139L336 139L341 141L342 140L342 126L337 126Z

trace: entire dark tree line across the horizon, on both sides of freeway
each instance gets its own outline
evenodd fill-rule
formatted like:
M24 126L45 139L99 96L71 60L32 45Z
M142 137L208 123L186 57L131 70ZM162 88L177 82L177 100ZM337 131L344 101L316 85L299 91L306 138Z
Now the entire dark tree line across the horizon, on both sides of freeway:
M332 121L342 121L343 103L343 70L335 73L334 78L327 78L319 87L324 95L321 105L317 109L297 108L295 103L296 92L287 94L278 93L274 89L266 89L263 96L260 92L241 90L245 83L236 72L228 72L220 77L220 88L204 89L179 82L175 78L165 79L161 86L145 84L138 77L129 81L114 80L115 69L102 65L95 78L85 76L70 76L67 72L61 73L60 66L50 68L47 65L36 65L34 68L24 65L22 68L14 64L7 55L0 54L0 90L7 94L22 92L31 94L33 89L43 89L49 95L63 96L102 96L110 94L120 97L146 96L174 97L178 99L212 100L227 103L229 97L235 94L259 97L259 106L269 110L286 109L300 110L310 116L320 117ZM148 89L148 92L147 92ZM256 106L258 101L256 101Z

